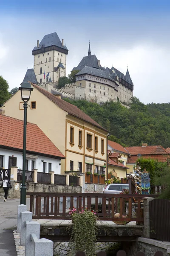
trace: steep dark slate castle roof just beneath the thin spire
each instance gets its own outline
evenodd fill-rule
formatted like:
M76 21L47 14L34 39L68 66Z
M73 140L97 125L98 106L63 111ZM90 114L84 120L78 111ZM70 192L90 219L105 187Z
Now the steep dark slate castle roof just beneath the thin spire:
M102 69L102 66L98 65L98 59L95 54L83 57L79 65L77 67L74 67L73 70L82 70L85 66Z

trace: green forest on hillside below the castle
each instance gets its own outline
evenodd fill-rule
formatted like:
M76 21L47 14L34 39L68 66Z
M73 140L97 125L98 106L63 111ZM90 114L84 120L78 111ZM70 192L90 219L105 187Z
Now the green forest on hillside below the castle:
M65 100L110 131L109 139L123 146L147 143L170 147L170 103L144 105L132 97L130 108L127 109L120 102L106 102L100 106L85 100Z

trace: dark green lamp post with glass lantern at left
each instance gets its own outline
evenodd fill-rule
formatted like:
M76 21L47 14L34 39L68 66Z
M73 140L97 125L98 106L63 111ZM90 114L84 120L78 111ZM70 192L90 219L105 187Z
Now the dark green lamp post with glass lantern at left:
M21 91L21 99L23 100L24 104L24 125L23 125L23 179L22 179L22 186L21 186L21 195L20 195L20 204L26 205L26 125L27 125L27 108L28 108L28 100L31 96L31 91L33 88L31 84L26 82L22 83L21 87L19 87Z

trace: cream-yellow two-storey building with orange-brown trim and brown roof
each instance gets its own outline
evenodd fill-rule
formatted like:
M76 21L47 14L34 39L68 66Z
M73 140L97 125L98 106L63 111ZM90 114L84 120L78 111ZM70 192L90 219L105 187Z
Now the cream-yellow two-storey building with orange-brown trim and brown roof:
M79 170L103 176L107 169L108 131L61 96L48 93L41 85L31 86L34 90L28 102L27 120L37 124L65 155L61 172ZM20 91L4 105L7 116L23 119Z

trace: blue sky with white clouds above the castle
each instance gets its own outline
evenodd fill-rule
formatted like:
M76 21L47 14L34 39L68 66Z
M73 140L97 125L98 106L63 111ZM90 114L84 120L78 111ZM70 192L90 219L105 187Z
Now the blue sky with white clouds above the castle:
M32 49L57 32L69 49L67 74L87 55L128 70L144 103L170 102L170 0L0 0L0 75L19 87Z

